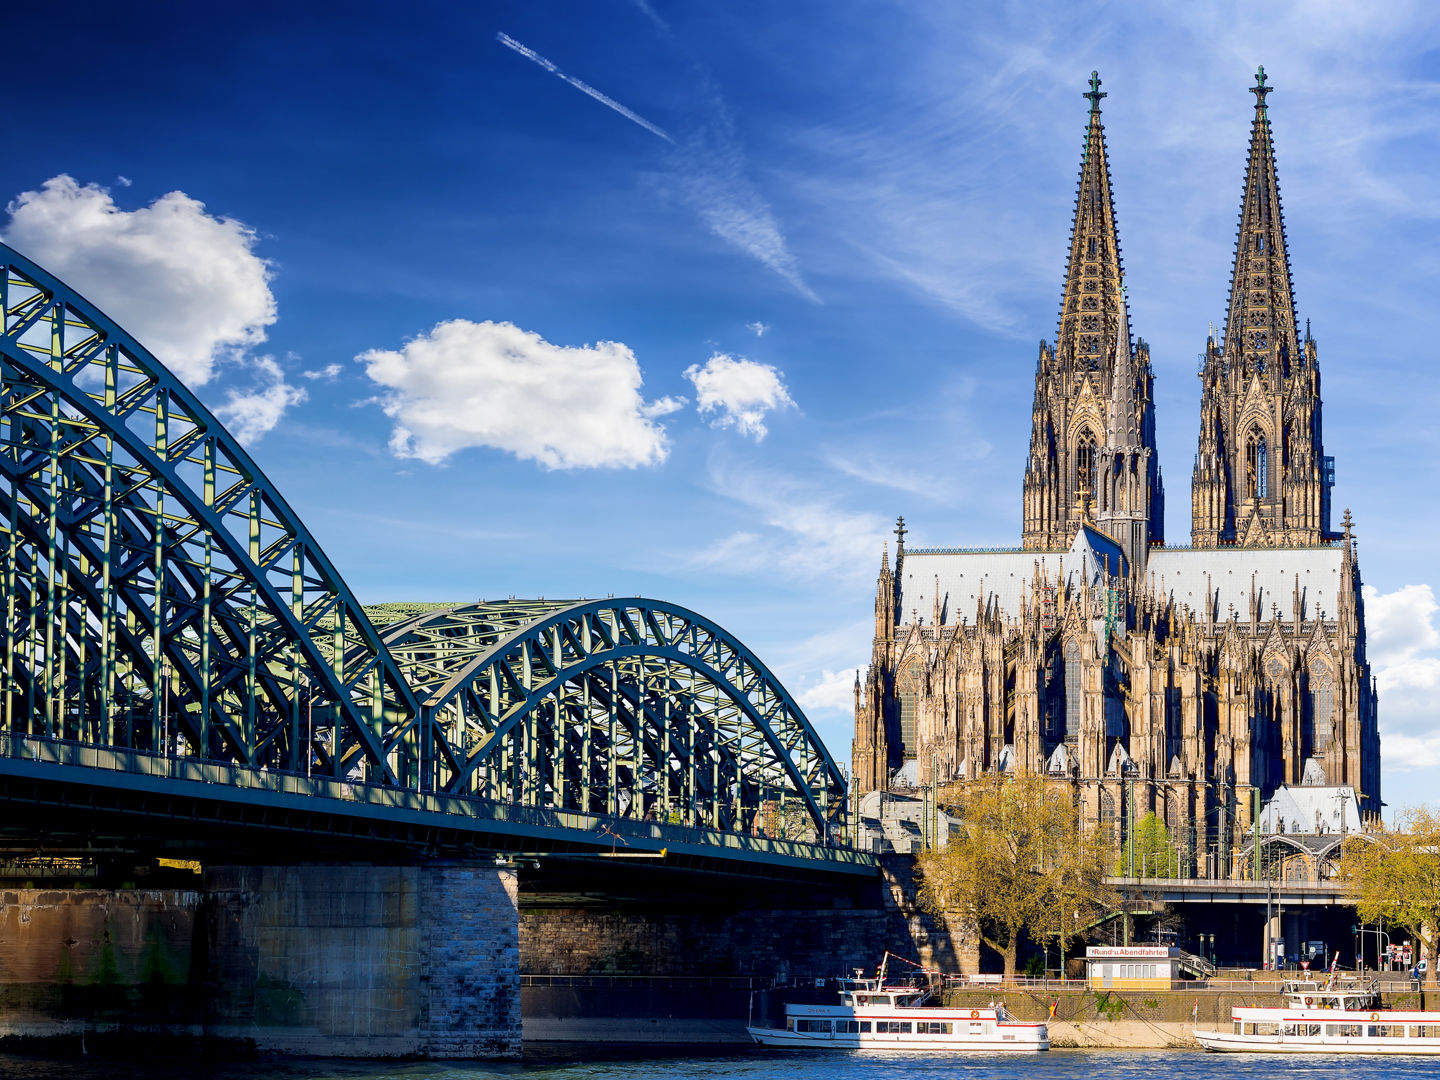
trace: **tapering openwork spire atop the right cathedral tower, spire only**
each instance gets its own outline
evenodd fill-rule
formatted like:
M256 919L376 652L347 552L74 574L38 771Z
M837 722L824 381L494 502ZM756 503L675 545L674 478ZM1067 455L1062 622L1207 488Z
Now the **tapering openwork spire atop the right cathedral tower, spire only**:
M1266 95L1264 68L1256 72L1256 115L1250 125L1250 160L1240 204L1236 264L1230 275L1230 308L1225 314L1225 357L1244 372L1289 374L1300 360L1295 287L1280 212L1280 181Z

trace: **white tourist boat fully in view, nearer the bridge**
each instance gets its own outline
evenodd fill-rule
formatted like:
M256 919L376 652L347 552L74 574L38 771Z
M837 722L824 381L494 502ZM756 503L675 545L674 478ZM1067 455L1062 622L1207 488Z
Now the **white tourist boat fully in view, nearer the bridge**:
M1038 1051L1044 1024L1015 1020L1002 1004L943 1008L927 986L886 985L886 953L874 979L841 979L838 1005L785 1005L783 1028L747 1027L762 1047L785 1050Z

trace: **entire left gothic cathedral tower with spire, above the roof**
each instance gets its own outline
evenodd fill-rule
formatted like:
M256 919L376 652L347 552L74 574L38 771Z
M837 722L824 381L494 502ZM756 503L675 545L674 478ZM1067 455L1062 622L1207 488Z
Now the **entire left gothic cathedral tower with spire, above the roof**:
M1164 540L1149 347L1132 346L1110 167L1100 124L1100 76L1090 75L1090 121L1070 230L1054 347L1040 343L1030 459L1027 549L1060 550L1099 508L1117 528L1132 572Z

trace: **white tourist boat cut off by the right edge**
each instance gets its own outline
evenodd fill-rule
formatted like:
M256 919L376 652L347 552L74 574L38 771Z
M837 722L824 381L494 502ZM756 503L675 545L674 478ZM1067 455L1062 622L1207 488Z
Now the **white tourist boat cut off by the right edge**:
M1331 975L1286 982L1280 1008L1234 1008L1230 1031L1200 1031L1207 1050L1247 1054L1440 1054L1440 1012L1385 1009L1380 984Z

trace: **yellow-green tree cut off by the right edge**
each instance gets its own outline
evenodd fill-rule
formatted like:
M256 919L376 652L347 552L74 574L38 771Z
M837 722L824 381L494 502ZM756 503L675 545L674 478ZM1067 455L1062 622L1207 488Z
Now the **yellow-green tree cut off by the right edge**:
M1440 943L1440 812L1407 806L1394 831L1346 837L1339 877L1362 922L1384 919L1405 927L1424 942L1434 966Z

